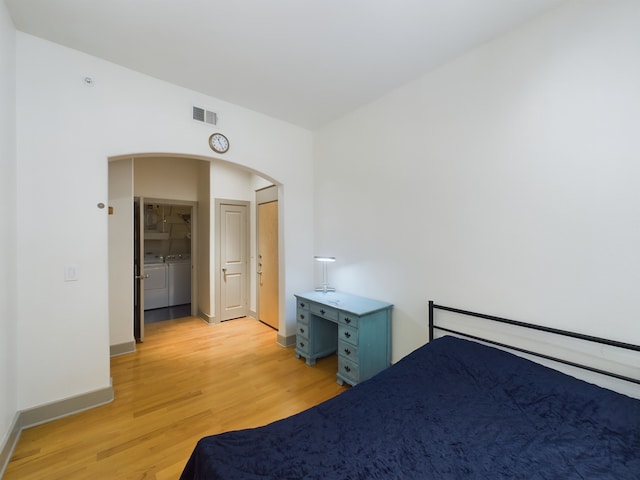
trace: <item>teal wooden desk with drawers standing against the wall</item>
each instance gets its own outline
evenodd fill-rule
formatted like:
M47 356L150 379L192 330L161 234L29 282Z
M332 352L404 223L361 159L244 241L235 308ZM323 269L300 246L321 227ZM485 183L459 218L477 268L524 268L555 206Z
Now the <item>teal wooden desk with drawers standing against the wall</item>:
M296 294L296 358L338 352L338 384L357 385L391 365L393 305L342 292Z

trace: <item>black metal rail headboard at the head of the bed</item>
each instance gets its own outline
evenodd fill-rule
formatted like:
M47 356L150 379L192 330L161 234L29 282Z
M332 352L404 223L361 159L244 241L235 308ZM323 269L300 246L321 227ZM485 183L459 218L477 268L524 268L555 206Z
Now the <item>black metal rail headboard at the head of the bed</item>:
M589 365L583 365L580 363L576 363L576 362L572 362L569 360L565 360L562 358L558 358L558 357L554 357L552 355L547 355L544 353L538 353L538 352L534 352L532 350L527 350L525 348L520 348L520 347L516 347L513 345L508 345L506 343L501 343L501 342L496 342L495 340L489 340L487 338L482 338L482 337L478 337L476 335L471 335L468 333L464 333L464 332L460 332L457 330L453 330L451 328L447 328L447 327L442 327L442 326L438 326L435 324L435 315L434 315L434 311L435 310L444 310L447 312L453 312L453 313L457 313L460 315L466 315L466 316L470 316L470 317L477 317L477 318L482 318L485 320L491 320L494 322L499 322L499 323L505 323L507 325L515 325L518 327L523 327L523 328L529 328L532 330L538 330L538 331L542 331L542 332L547 332L547 333L553 333L555 335L561 335L564 337L571 337L571 338L577 338L580 340L585 340L588 342L592 342L592 343L598 343L601 345L608 345L608 346L612 346L612 347L617 347L617 348L622 348L624 350L632 350L635 352L640 352L640 345L633 345L630 343L624 343L624 342L617 342L615 340L608 340L606 338L600 338L600 337L593 337L591 335L584 335L582 333L575 333L575 332L570 332L568 330L561 330L558 328L551 328L551 327L545 327L545 326L541 326L541 325L535 325L532 323L525 323L525 322L520 322L517 320L510 320L508 318L502 318L502 317L496 317L493 315L486 315L484 313L476 313L476 312L470 312L468 310L461 310L459 308L453 308L453 307L445 307L443 305L436 305L433 300L429 300L429 341L434 339L434 333L435 330L440 330L443 332L448 332L448 333L453 333L455 335L461 335L463 337L466 338L470 338L473 340L478 340L481 342L486 342L486 343L490 343L492 345L496 345L499 347L503 347L503 348L508 348L510 350L516 350L518 352L522 352L522 353L526 353L529 355L535 355L536 357L540 357L540 358L544 358L547 360L553 360L554 362L560 362L560 363L564 363L565 365L570 365L572 367L578 367L578 368L582 368L584 370L589 370L591 372L595 372L601 375L607 375L609 377L614 377L620 380L625 380L627 382L631 382L631 383L636 383L640 385L640 378L632 378L632 377L627 377L625 375L620 375L617 374L615 372L607 372L605 370L601 370L599 368L594 368L591 367Z

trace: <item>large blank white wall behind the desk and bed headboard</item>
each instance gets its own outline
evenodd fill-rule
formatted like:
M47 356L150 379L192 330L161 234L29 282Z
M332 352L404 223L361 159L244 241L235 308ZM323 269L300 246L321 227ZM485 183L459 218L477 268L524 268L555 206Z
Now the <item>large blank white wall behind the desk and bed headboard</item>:
M334 286L640 344L640 3L577 1L315 132Z

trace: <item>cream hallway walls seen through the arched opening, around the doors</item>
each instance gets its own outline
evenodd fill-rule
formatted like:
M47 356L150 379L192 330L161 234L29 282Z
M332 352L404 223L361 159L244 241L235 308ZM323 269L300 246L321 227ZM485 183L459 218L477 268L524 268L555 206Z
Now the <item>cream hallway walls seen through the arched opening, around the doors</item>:
M136 176L136 165L144 165L144 178ZM156 177L149 175L156 165ZM186 170L186 171L182 171ZM215 252L213 226L215 198L243 197L255 201L255 191L278 183L266 174L217 158L169 153L138 153L109 158L109 324L111 354L135 351L132 289L133 198L170 198L198 204L198 245L194 285L197 315L215 321ZM282 185L278 185L280 190ZM255 228L255 212L251 224ZM251 233L250 267L255 261L255 231ZM284 270L284 269L282 269ZM249 268L251 311L255 311L256 269Z

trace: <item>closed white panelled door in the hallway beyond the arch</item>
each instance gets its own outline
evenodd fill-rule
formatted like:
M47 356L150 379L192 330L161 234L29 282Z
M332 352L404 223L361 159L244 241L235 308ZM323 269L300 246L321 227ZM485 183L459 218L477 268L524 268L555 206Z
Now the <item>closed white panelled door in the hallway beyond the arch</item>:
M247 315L248 207L246 202L221 203L220 321Z

